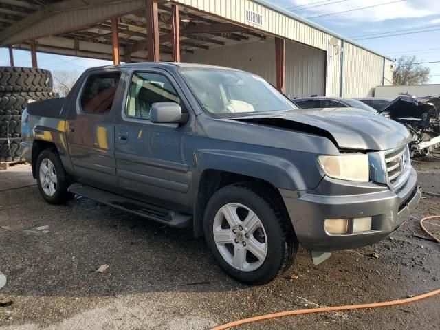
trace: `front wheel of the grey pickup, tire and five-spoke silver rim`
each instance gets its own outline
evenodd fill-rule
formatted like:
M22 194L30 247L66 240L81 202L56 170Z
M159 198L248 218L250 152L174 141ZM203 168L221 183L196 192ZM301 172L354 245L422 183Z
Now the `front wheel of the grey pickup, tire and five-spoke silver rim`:
M245 283L272 281L292 265L298 248L292 225L276 202L246 184L212 195L203 229L221 268Z

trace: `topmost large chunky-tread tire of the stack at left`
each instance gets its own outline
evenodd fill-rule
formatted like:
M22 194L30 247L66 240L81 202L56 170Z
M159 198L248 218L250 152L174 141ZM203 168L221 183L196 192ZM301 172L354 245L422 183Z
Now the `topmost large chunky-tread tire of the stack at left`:
M0 67L0 91L53 91L52 74L30 67Z

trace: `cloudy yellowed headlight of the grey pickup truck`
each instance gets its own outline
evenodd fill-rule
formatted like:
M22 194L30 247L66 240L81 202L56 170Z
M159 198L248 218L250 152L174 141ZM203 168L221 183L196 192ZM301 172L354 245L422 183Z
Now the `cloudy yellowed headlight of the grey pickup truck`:
M364 154L319 156L318 162L325 174L334 179L370 181L369 156Z

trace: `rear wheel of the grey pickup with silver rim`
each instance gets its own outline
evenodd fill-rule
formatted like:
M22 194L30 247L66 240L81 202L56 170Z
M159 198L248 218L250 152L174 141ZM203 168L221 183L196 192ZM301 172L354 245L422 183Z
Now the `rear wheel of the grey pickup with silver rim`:
M41 195L51 204L63 204L72 197L61 158L55 149L40 153L36 160L36 181Z

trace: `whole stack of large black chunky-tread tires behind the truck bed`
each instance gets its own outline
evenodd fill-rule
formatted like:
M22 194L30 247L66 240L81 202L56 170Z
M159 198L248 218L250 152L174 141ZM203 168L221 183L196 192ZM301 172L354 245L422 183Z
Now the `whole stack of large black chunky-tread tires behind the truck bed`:
M0 67L0 162L23 160L21 114L29 102L54 98L48 70Z

